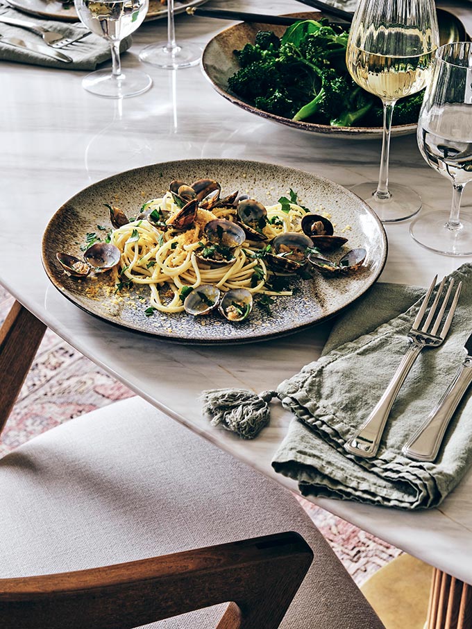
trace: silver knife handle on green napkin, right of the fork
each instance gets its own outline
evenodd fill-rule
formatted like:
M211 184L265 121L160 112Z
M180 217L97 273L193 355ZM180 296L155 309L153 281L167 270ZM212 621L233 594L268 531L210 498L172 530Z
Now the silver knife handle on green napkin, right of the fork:
M405 456L419 461L435 460L450 418L471 383L472 360L466 359L424 424L403 446Z

